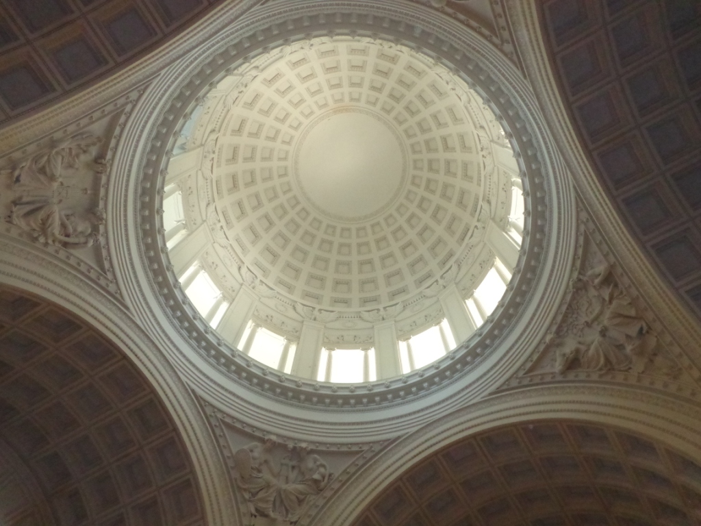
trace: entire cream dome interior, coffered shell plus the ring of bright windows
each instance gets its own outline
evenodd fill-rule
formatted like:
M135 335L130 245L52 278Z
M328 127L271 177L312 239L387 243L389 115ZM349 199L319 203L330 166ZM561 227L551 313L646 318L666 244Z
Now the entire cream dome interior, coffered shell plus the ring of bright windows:
M515 267L524 205L505 133L466 83L406 46L327 36L274 48L210 88L168 165L164 228L171 256L193 264L183 288L228 342L334 380L330 365L320 371L329 359L295 367L290 346L395 355L398 340L440 325L422 344L440 349L411 359L409 345L401 367L357 353L359 371L372 362L363 381L433 361L482 324ZM186 163L200 175L179 179Z

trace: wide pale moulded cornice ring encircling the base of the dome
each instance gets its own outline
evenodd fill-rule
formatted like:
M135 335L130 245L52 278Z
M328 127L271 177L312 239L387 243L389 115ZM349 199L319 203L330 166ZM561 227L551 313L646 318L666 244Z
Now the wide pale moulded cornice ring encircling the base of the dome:
M507 131L522 167L526 214L537 232L529 235L526 227L522 256L507 295L467 342L428 367L367 385L318 384L287 377L239 356L217 338L177 287L177 277L163 261L164 240L156 234L160 217L154 203L163 187L164 159L178 122L205 86L213 86L236 65L280 43L322 34L382 36L421 50L484 96ZM141 229L139 233L115 229L111 234L118 238L119 250L127 250L117 255L118 264L139 267L139 271L123 274L142 278L124 283L124 288L148 306L150 313L143 311L142 316L155 324L163 346L179 356L177 361L198 389L212 393L207 396L217 398L220 405L238 407L243 414L250 409L242 404L266 407L260 425L271 430L295 425L289 418L292 406L306 415L304 424L297 427L304 436L336 436L341 426L346 440L352 440L355 433L367 438L360 423L379 420L385 424L375 427L373 436L391 436L402 426L425 419L428 407L435 415L439 406L448 411L462 405L501 381L528 356L566 289L575 238L573 194L535 97L519 70L494 46L425 6L398 0L287 0L261 6L232 21L207 46L191 50L165 69L135 108L128 128L115 156L115 172L122 179L113 180L112 197L125 216L119 224L140 225ZM131 174L140 174L140 180L129 180ZM569 214L562 213L565 208ZM161 323L157 320L164 319L168 322L156 328ZM179 350L182 345L191 351ZM245 394L240 393L240 386L246 388ZM416 404L414 400L423 401ZM351 434L348 410L356 420Z

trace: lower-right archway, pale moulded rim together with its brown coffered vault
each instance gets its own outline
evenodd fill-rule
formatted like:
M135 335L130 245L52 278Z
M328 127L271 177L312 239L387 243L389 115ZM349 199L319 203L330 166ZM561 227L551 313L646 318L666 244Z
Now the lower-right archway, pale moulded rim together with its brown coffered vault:
M660 497L659 494L655 497L655 491L658 489L662 493L667 490L662 487L666 484L664 480L660 480L660 487L655 489L655 483L650 482L655 478L654 473L667 480L674 480L674 483L678 483L681 480L680 477L684 478L691 494L685 494L686 490L680 490L674 497L675 506L677 509L680 506L684 508L683 513L688 514L688 520L697 520L699 510L697 497L694 495L701 491L697 479L698 467L701 465L701 447L697 442L696 429L699 417L699 411L692 405L675 403L652 394L644 396L629 389L602 388L585 383L576 386L547 386L522 389L517 393L503 393L455 412L431 426L426 426L402 438L384 454L376 457L372 466L348 480L347 492L339 492L338 496L327 504L323 513L318 515L317 523L372 526L416 523L433 526L454 524L451 521L458 521L456 523L461 524L460 520L470 519L475 522L468 520L468 524L531 524L529 522L531 518L537 517L528 518L527 513L524 515L520 505L514 504L515 494L536 490L539 484L542 484L541 489L550 485L548 489L550 497L547 499L552 497L552 502L549 505L550 511L547 513L558 516L564 513L562 500L552 496L552 489L566 482L567 478L573 475L574 471L566 475L566 470L577 470L577 473L583 477L580 480L582 485L595 487L600 483L606 485L606 475L602 473L609 463L618 466L614 466L614 471L620 472L622 469L623 473L618 474L621 485L627 485L633 492L649 490L651 498L662 499L662 505L658 506L659 511L653 514L655 520L660 514L669 512L674 515L676 512L665 511L669 499L665 504L664 497ZM508 431L502 435L501 433L505 430ZM623 438L619 440L612 433L622 433ZM510 438L506 438L506 435ZM605 438L601 438L602 436ZM491 444L477 444L483 438ZM587 440L592 440L592 447L587 446ZM649 444L653 442L655 450L669 450L669 457L667 460L662 459L666 453L651 457L646 465L643 457L646 455L645 451L651 452ZM466 453L458 454L458 450L465 447L473 451L470 453L472 457ZM628 454L625 451L626 447L637 452ZM407 490L406 484L409 478L415 476L417 480L430 479L430 473L423 471L428 470L426 466L435 467L436 459L441 455L449 456L454 448L457 448L453 452L454 458L441 460L443 462L441 466L447 466L448 471L440 471L442 467L436 468L436 476L444 476L442 482L437 482L434 486L430 480L424 480L423 483L427 485L426 491L415 493L415 489ZM568 455L570 458L565 458ZM576 461L571 461L573 456L577 457ZM642 464L635 459L631 460L631 456L642 458ZM547 461L543 462L542 459L546 457ZM557 464L557 459L554 457L562 457L562 465ZM674 468L669 462L672 458L676 463ZM524 473L526 464L531 466L527 468L530 475L524 475L523 479L518 478L520 475L517 463L519 462L522 463ZM474 479L472 482L477 485L478 479L475 477L478 475L484 475L487 471L491 473L491 470L503 472L506 469L505 466L509 464L512 464L508 469L512 470L515 479L507 480L508 471L506 475L495 474L494 478L498 480L498 485L494 486L491 492L486 492L486 495L482 496L483 500L479 497L473 502L469 492L466 494L464 488L458 490L458 486L465 480L472 478ZM623 464L627 467L621 467ZM571 467L567 468L567 466ZM451 473L453 468L454 473ZM634 474L636 469L648 470L653 474L643 472ZM684 470L686 475L680 475ZM529 486L530 476L535 479ZM412 484L418 487L418 482L410 482L409 486ZM645 484L651 487L644 487ZM577 482L572 485L577 485ZM400 486L402 489L395 491ZM408 492L402 493L404 490ZM478 491L478 488L472 488L469 491L472 490ZM439 498L442 492L446 493L444 499ZM404 498L402 495L406 495L408 499L406 506L400 504ZM382 504L383 499L386 499L384 504ZM495 504L500 499L506 499L511 504L500 508ZM441 501L443 504L440 504ZM495 504L495 508L491 511L489 511L490 502ZM398 507L395 510L397 510L397 516L401 518L395 522L383 520L378 513L380 515L383 513L381 511L383 506L393 508L395 506L393 503L397 504ZM441 508L442 505L453 509L456 515L448 514L446 522L439 519L431 522L430 506ZM374 509L376 506L379 506L379 510ZM477 516L482 513L477 508L482 506L486 506L484 514L494 513L495 516L492 518ZM404 514L401 510L405 507L411 511ZM501 512L498 512L498 509L504 511L512 509L515 515L511 518L507 515L499 517ZM649 508L646 509L649 511ZM601 507L601 503L590 508L592 516L601 515L605 510L605 507ZM584 509L580 511L586 515ZM416 513L418 522L411 522L413 513ZM367 516L370 517L369 520L363 522ZM681 516L684 515L679 515ZM499 522L507 518L515 522L508 522L508 520ZM641 520L640 524L649 523L645 522L646 517L640 519L637 515L637 519ZM421 522L422 520L427 522ZM497 522L493 522L494 520ZM567 520L569 519L554 523L580 524L580 522L567 522ZM636 516L633 516L632 520L636 520ZM586 524L586 522L582 523ZM601 523L607 524L607 522ZM652 524L657 523L652 522ZM543 524L549 524L549 522L543 522ZM618 522L612 524L618 524ZM637 524L637 522L621 522L621 524Z

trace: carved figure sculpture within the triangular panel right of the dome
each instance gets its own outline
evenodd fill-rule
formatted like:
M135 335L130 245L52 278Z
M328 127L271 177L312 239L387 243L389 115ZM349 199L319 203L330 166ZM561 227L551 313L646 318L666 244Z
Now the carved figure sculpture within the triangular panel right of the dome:
M676 363L658 352L657 336L615 281L611 267L602 265L578 276L571 286L584 293L587 309L580 335L551 335L548 339L556 349L559 374L572 368L679 374Z

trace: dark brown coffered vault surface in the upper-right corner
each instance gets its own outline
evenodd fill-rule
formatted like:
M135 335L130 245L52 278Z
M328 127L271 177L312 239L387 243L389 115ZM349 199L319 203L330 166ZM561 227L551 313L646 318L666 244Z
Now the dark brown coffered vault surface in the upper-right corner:
M550 0L540 16L604 187L701 316L701 2Z

